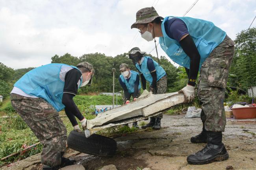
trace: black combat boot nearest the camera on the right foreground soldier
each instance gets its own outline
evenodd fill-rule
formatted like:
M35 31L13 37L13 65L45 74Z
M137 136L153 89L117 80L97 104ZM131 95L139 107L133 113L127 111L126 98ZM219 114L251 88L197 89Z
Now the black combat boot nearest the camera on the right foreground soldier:
M214 161L228 159L228 152L222 143L222 132L206 132L207 144L204 149L187 157L187 162L193 165L203 165Z

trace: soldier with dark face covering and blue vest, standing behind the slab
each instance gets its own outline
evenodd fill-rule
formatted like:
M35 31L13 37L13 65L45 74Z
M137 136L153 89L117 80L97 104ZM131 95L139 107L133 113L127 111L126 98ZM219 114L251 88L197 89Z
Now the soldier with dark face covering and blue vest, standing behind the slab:
M163 94L167 90L167 75L165 70L151 57L146 56L146 52L141 51L138 47L130 50L129 58L135 63L135 67L141 74L143 90L146 90L146 81L149 82L149 92L152 94ZM150 122L142 129L152 127L154 130L160 130L161 119L163 114L150 117Z

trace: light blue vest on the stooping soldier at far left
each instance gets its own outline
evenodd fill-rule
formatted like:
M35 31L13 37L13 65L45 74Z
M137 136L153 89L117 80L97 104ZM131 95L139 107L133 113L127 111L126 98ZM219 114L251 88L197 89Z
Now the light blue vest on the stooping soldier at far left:
M65 108L64 104L62 104L65 82L60 79L59 74L62 66L69 65L52 63L32 69L23 75L14 86L28 95L45 99L59 112ZM76 68L74 66L69 67ZM80 81L78 88L82 85L83 80L81 79Z

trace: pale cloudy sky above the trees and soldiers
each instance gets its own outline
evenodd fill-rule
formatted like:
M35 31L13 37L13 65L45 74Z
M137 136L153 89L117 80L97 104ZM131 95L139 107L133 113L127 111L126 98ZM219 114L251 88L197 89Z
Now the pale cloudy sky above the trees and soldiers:
M0 62L11 68L37 67L55 54L105 53L134 46L151 51L130 29L136 12L152 5L160 16L182 16L195 0L0 0ZM256 0L199 0L186 16L209 20L234 39L250 26ZM252 27L256 26L256 21ZM158 47L160 55L165 55ZM155 50L152 55L156 55ZM166 56L166 55L165 55Z

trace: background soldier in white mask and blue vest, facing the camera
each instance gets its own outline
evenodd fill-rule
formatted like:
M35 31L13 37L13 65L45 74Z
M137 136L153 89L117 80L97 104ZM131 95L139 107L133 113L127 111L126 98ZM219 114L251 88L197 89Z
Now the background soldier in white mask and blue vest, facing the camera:
M129 104L131 97L133 101L136 101L140 95L141 82L139 81L139 73L130 70L126 63L122 63L119 68L121 72L119 83L124 90L124 104ZM126 124L126 126L128 126L128 124ZM133 122L132 126L139 128L137 122Z

